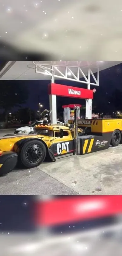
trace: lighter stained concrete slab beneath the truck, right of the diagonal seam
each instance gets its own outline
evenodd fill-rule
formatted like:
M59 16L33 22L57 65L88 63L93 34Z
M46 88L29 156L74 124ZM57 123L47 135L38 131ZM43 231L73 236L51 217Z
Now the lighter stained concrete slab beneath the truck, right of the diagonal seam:
M38 168L81 195L122 194L122 145L84 156L42 163Z

